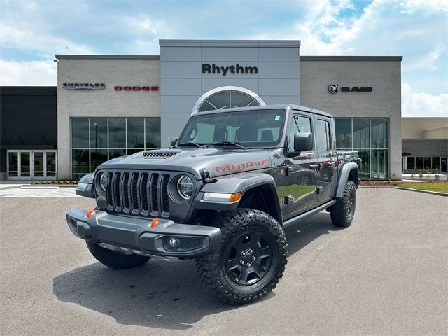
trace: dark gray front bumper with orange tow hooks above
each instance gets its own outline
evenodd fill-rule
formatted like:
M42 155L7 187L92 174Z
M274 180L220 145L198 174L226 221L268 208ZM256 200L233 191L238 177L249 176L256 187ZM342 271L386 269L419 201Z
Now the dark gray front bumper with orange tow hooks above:
M218 228L178 224L167 219L159 219L158 225L152 228L152 219L111 215L99 210L87 218L87 211L80 209L71 209L66 215L67 224L76 237L148 255L192 258L214 251L220 244ZM170 238L179 242L176 249L169 245Z

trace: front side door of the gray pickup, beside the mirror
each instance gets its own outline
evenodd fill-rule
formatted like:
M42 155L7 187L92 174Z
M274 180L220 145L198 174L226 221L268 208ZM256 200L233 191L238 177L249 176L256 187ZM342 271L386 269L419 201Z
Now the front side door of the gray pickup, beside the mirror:
M293 115L288 136L288 152L293 151L294 134L297 132L314 132L313 120L310 115L300 113ZM315 205L318 182L316 155L316 146L314 146L312 151L302 152L300 155L286 160L287 214L295 216Z

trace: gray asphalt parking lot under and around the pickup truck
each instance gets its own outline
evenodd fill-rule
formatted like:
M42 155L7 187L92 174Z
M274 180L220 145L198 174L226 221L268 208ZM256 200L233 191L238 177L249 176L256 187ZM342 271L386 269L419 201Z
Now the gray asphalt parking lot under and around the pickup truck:
M360 188L353 225L287 230L264 300L231 307L192 261L117 271L65 223L84 198L0 198L1 335L447 335L448 197Z

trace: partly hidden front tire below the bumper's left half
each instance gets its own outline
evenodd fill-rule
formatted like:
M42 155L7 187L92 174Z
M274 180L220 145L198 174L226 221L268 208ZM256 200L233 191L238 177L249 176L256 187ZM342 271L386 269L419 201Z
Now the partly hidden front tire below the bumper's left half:
M137 254L124 254L109 250L90 241L85 241L90 253L103 265L115 269L129 269L144 265L150 258Z

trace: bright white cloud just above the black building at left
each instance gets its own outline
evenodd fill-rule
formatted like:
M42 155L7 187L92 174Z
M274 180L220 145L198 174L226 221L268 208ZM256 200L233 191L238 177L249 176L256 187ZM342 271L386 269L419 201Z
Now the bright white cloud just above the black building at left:
M0 85L56 86L57 63L50 59L31 62L0 59Z

